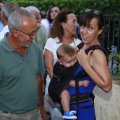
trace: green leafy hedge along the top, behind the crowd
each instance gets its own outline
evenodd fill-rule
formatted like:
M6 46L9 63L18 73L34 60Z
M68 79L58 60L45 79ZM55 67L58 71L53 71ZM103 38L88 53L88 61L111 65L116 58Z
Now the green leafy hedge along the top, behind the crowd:
M40 10L48 10L53 5L61 8L68 8L76 15L80 15L85 8L97 8L104 14L119 14L120 0L3 0L3 2L13 1L21 7L34 5Z

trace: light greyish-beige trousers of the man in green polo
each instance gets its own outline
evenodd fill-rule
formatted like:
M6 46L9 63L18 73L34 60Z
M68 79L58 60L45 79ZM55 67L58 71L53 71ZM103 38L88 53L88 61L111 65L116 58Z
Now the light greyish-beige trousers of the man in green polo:
M22 114L4 113L0 110L0 120L42 120L39 108Z

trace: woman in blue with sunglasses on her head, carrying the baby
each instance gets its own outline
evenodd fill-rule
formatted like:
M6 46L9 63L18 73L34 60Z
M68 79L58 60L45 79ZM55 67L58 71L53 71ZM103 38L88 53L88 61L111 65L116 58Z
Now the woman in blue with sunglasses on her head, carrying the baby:
M80 18L80 35L83 42L81 49L78 52L78 62L80 70L85 70L88 76L86 78L90 81L88 87L79 87L78 94L91 95L95 85L100 87L104 92L109 92L112 89L112 79L108 69L107 57L105 52L100 49L94 49L88 54L85 53L90 47L99 46L100 39L104 30L104 17L102 13L94 9L86 9ZM75 74L78 74L77 72ZM69 84L68 91L71 96L76 96L75 80ZM94 101L91 96L85 102L71 104L71 110L77 111L78 120L95 120Z

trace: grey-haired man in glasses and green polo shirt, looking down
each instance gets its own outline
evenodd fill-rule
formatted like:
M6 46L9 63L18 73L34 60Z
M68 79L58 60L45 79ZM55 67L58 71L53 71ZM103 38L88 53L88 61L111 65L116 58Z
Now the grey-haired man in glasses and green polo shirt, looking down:
M18 9L10 15L8 28L10 33L0 42L0 120L47 120L42 105L43 58L34 41L36 19Z

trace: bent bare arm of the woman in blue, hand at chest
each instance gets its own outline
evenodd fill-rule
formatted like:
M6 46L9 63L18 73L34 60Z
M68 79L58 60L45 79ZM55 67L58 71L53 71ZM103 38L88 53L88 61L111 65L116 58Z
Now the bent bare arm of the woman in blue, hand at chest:
M111 90L112 79L106 56L101 50L90 51L88 55L84 50L80 50L78 52L78 62L103 91L109 92Z

